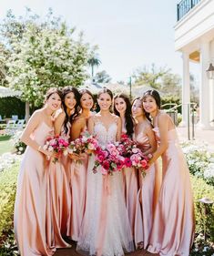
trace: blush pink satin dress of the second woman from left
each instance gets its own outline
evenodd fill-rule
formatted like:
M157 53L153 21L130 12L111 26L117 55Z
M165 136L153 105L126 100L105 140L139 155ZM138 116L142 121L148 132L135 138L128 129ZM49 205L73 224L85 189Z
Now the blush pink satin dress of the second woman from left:
M69 123L67 124L67 128L67 134L69 134ZM66 135L63 128L61 137L67 141L69 140L69 136ZM51 159L47 166L54 232L52 243L56 248L70 247L70 245L63 239L63 237L66 237L71 214L71 191L69 187L69 179L67 179L67 168L69 168L69 164L64 155L60 156L56 163Z

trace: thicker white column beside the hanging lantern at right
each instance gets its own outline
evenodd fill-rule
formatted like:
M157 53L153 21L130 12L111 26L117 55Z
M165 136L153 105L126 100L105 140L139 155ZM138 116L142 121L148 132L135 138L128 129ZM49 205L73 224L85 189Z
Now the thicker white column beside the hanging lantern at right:
M200 83L199 83L199 127L210 128L209 78L206 70L209 67L209 42L200 45Z

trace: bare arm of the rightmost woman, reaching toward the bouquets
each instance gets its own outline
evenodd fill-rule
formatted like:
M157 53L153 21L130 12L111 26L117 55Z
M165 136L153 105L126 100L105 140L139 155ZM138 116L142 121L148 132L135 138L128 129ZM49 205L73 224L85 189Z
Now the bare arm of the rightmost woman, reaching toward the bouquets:
M168 116L166 114L158 117L158 129L160 144L152 159L149 160L149 164L154 163L168 148Z

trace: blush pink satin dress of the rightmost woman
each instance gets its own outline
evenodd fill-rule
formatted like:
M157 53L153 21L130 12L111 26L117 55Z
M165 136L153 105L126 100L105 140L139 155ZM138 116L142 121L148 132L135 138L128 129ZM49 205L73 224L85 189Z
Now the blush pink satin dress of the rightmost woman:
M154 131L159 142L158 127ZM148 251L160 256L189 256L194 239L193 195L175 128L168 130L168 148L162 162L163 180Z

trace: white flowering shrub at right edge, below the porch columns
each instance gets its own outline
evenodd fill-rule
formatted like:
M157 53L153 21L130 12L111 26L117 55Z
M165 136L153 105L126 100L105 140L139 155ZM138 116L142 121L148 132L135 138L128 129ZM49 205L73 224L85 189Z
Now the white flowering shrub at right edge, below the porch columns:
M190 173L205 179L208 184L214 185L214 154L209 152L204 144L183 143L181 146Z

